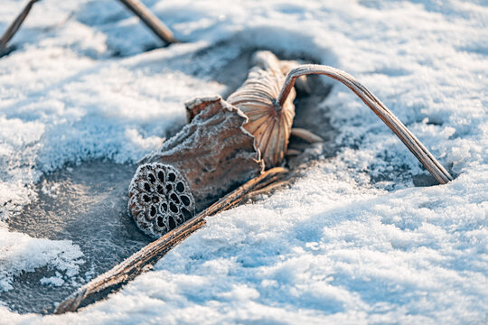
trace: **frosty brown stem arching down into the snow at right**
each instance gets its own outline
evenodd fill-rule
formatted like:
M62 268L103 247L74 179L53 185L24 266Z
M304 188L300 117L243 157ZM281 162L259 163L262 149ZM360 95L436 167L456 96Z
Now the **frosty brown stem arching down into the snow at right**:
M436 158L434 158L432 153L429 153L427 148L418 141L415 135L412 135L412 133L408 131L408 128L399 121L397 116L394 116L393 113L381 103L380 99L371 94L370 90L362 86L361 83L354 79L350 74L342 70L317 64L305 64L290 70L286 75L285 84L277 98L277 103L281 106L286 102L288 94L295 85L296 78L309 74L321 74L341 81L347 88L350 88L359 98L361 98L364 104L370 107L386 125L388 125L391 131L393 131L393 133L407 145L408 149L440 184L446 184L448 181L453 180L453 177L436 161Z

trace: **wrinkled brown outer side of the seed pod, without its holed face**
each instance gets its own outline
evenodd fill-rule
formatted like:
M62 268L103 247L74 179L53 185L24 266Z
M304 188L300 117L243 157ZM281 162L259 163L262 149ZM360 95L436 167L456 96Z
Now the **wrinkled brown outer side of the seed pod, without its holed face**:
M186 109L192 122L138 163L172 165L188 181L201 211L258 176L264 164L239 108L215 96L195 98Z

